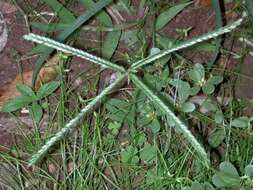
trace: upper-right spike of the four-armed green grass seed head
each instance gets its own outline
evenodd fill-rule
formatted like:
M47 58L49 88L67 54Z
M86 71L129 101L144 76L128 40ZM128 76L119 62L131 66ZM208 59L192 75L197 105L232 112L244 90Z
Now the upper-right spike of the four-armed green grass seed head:
M142 60L139 60L139 61L136 61L135 63L133 63L131 65L131 70L136 70L144 65L147 65L157 59L160 59L162 58L163 56L167 55L167 54L170 54L172 52L175 52L175 51L178 51L180 49L184 49L184 48L187 48L187 47L190 47L192 45L195 45L197 43L200 43L200 42L203 42L203 41L206 41L206 40L209 40L209 39L212 39L212 38L215 38L219 35L222 35L222 34L225 34L225 33L228 33L230 31L232 31L233 29L235 29L237 26L239 26L243 21L243 18L241 19L238 19L237 21L225 26L225 27L222 27L222 28L219 28L215 31L212 31L212 32L209 32L207 34L203 34L201 36L198 36L196 38L193 38L193 39L190 39L190 40L187 40L185 42L182 42L181 44L178 44L178 45L175 45L174 47L170 48L170 49L165 49L165 50L162 50L160 51L159 53L155 54L155 55L152 55L152 56L149 56L145 59L142 59Z

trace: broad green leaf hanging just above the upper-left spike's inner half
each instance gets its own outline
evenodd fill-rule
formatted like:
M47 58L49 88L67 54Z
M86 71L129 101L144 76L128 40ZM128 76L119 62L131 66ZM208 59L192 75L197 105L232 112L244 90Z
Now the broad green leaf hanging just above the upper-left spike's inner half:
M118 47L121 31L108 32L102 45L102 57L110 60Z

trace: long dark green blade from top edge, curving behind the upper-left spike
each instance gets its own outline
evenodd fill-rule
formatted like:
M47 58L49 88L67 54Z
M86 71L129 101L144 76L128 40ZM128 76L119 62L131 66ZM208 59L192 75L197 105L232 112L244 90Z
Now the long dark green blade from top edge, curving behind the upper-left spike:
M88 9L84 14L79 16L75 22L73 22L66 30L60 33L56 40L63 42L65 41L73 32L75 32L83 23L88 21L92 16L96 15L100 10L102 10L105 6L110 4L112 0L100 0L90 9ZM49 57L49 55L54 51L54 49L48 48L37 60L33 69L33 77L32 84L35 85L35 81L37 79L37 75L40 72L41 67L43 66L45 60Z

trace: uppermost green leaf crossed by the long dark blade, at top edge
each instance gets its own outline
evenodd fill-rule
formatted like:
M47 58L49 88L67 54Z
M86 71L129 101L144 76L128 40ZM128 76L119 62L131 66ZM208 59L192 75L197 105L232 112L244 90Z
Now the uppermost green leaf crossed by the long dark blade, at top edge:
M80 2L85 6L85 8L89 9L92 6L94 6L93 0L80 0ZM96 19L99 23L101 23L104 26L112 26L112 20L111 17L103 10L101 10L97 15Z

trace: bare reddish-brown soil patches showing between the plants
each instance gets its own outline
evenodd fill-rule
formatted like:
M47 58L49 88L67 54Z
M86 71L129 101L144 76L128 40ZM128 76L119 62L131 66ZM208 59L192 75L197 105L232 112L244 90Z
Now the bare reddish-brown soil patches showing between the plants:
M1 11L1 8L0 8ZM4 51L0 53L0 87L4 87L6 84L10 83L19 72L19 64L22 66L23 70L31 70L36 58L22 59L27 57L27 53L33 47L30 42L25 41L22 36L28 33L28 28L26 26L23 15L17 9L11 13L4 13L4 17L7 21L7 27L9 31L9 38L7 46ZM228 20L235 19L234 16L228 16ZM178 33L176 29L185 29L188 27L193 27L189 33L189 38L197 36L199 34L206 33L215 28L215 18L214 12L210 7L194 7L185 9L180 15L174 19L168 27L162 31L164 35L167 36L177 36ZM90 38L94 38L91 36ZM242 46L238 43L237 49ZM212 55L207 53L193 53L187 52L188 58L193 60L193 62L207 62L212 58ZM73 67L73 73L77 71L87 69L87 66L83 64L83 60L75 59L76 64ZM236 64L235 60L230 60L231 64ZM246 75L252 75L253 65L252 57L248 56L244 65L243 71ZM73 74L72 74L73 75ZM75 76L75 74L73 75ZM249 80L244 79L242 86L238 90L238 95L253 98L253 86L250 85ZM31 121L25 117L27 125L31 126ZM0 144L4 146L11 146L14 144L16 121L13 117L8 114L0 114Z

